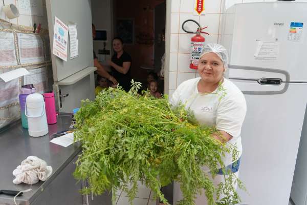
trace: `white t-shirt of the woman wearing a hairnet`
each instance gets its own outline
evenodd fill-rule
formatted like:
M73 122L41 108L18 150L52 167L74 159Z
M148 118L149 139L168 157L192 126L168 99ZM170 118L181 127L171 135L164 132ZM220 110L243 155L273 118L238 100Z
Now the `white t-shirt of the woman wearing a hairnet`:
M233 138L229 144L236 146L238 157L242 154L241 127L246 114L246 101L243 93L228 79L224 78L222 87L225 91L201 94L198 91L200 77L184 81L172 94L170 104L180 103L190 109L200 125L215 126ZM223 92L225 96L223 95ZM223 157L225 166L234 162L232 154Z

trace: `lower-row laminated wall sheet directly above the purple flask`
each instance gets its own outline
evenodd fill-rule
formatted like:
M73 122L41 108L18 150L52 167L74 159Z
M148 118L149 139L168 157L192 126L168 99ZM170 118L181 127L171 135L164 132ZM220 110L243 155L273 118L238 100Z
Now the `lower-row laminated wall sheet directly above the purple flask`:
M46 67L30 70L24 76L24 85L27 84L33 84L36 92L43 93L47 88Z

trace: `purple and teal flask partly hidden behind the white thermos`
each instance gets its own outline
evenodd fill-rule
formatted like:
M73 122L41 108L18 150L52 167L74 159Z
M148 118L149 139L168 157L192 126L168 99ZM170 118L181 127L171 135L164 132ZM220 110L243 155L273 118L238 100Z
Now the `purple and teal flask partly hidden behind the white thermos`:
M28 118L26 117L25 107L26 98L28 95L35 92L35 88L32 84L21 86L19 94L19 105L20 105L20 115L21 115L21 125L23 128L28 129Z

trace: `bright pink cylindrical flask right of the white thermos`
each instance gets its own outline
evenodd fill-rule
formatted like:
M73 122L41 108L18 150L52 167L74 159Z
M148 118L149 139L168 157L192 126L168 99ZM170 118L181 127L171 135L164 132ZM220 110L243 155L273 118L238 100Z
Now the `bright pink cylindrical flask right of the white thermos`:
M47 123L55 124L56 123L56 112L55 112L55 99L53 91L49 91L43 94L45 99L45 108L47 115Z

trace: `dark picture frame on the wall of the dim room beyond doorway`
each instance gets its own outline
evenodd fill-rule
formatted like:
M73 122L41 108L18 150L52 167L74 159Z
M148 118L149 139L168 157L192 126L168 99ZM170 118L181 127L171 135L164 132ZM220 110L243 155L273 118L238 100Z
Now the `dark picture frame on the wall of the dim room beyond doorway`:
M124 44L135 43L135 22L133 18L118 18L116 20L116 34L123 39Z

